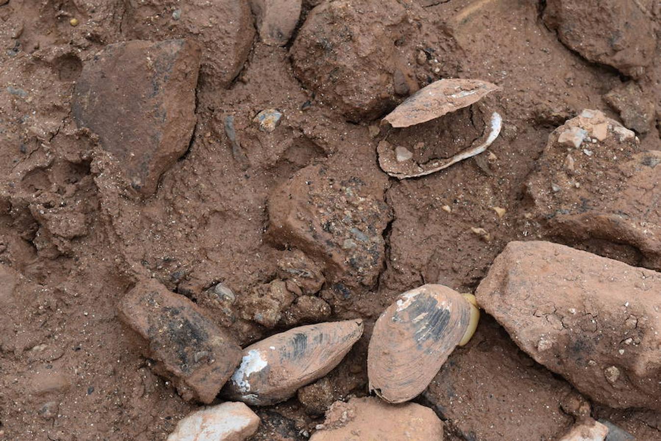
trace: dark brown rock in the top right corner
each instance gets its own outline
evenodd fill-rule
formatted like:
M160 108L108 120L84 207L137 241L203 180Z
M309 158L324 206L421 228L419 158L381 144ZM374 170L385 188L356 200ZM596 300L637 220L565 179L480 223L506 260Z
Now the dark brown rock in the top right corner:
M654 0L548 0L544 22L589 61L640 77L654 54Z

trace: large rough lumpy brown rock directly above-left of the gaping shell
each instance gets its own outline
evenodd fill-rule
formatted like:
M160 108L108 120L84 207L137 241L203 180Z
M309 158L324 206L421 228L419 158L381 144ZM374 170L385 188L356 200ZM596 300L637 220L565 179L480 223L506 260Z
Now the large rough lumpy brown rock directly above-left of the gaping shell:
M417 8L396 0L321 3L293 43L295 74L347 118L377 118L418 90L416 45L426 45Z

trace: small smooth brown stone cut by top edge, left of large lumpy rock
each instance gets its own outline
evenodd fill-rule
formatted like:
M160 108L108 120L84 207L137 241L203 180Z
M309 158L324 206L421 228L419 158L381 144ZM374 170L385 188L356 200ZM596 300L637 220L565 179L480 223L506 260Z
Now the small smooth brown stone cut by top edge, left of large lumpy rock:
M251 0L260 40L270 46L286 45L301 15L301 4L301 0Z

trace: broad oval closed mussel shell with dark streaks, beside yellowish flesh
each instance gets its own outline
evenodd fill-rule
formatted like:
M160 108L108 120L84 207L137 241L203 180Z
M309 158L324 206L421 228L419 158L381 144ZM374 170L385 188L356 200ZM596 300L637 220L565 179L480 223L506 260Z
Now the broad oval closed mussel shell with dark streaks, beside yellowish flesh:
M469 303L444 285L401 294L374 325L369 390L390 403L422 393L461 341L470 319Z

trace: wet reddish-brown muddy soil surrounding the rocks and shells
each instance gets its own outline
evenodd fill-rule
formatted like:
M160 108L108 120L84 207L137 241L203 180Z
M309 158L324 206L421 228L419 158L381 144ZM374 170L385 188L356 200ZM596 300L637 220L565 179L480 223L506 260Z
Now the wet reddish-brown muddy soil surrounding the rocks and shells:
M418 0L410 7L433 51L417 48L420 42L409 38L414 28L399 22L393 32L403 44L388 56L408 54L414 67L401 67L406 72L398 75L416 87L442 77L495 83L502 91L483 102L503 116L504 130L490 147L490 159L486 153L398 181L379 168L379 137L370 135L369 126L403 99L402 90L414 87L395 93L390 85L383 100L364 98L364 112L355 110L355 100L331 105L309 89L323 89L315 79L297 77L315 69L301 61L304 44L290 42L299 63L295 73L290 46L260 43L243 3L216 0L213 10L204 6L210 2L189 3L197 6L183 8L182 19L173 22L177 1L0 0L0 439L165 439L198 404L184 401L151 370L153 362L118 320L118 301L137 279L153 277L194 300L242 347L291 327L286 318L264 327L252 320L259 302L227 307L209 288L223 282L240 300L282 278L278 261L292 252L286 238L268 230L270 196L302 168L319 165L338 183L360 180L360 191L387 205L389 223L382 233L383 262L376 260L380 266L369 286L358 276L342 280L323 257L309 255L327 280L318 293L303 293L331 306L324 320L360 317L366 331L327 378L309 386L318 392L304 388L290 401L256 409L262 424L254 440L304 440L332 401L367 394L367 342L374 321L397 294L424 283L472 292L511 240L555 239L525 216L527 176L549 133L565 119L583 108L619 118L603 95L630 79L564 46L542 19L545 1ZM303 1L301 22L319 3L325 2ZM648 5L658 25L653 2L633 3ZM69 24L72 17L77 26ZM593 18L597 26L606 19ZM198 40L204 52L196 128L188 152L163 174L156 193L144 198L126 185L120 164L100 148L98 137L77 127L71 115L75 81L83 63L108 44L180 36ZM656 36L640 37L655 40L656 51L635 79L659 112ZM386 38L377 37L365 41ZM418 51L422 65L416 65ZM362 75L342 81L348 88L360 88L361 81L377 87ZM253 122L268 108L284 114L272 133ZM466 112L448 118L462 121ZM223 130L230 115L248 164L233 156ZM639 135L641 150L661 150L658 115ZM412 147L424 141L435 156L449 156L454 152L434 144L434 131L447 124L426 123L411 134L415 139L401 142ZM501 219L492 207L506 214ZM471 227L485 228L492 239L486 242ZM570 245L642 265L631 247ZM444 419L449 440L551 440L573 423L561 407L571 391L486 316L473 341L449 357L417 401ZM661 440L661 418L650 411L595 405L592 416L639 440Z

